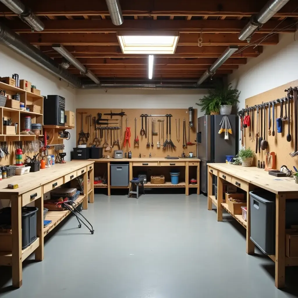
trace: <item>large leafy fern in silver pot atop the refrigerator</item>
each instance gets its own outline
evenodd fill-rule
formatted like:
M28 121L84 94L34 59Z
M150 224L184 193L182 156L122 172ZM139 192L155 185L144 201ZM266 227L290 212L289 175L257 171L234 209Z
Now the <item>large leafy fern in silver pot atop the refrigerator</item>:
M205 111L205 115L219 113L229 115L233 105L239 103L239 95L238 89L233 89L231 84L228 86L217 85L215 89L208 90L208 95L205 95L196 105L201 107L201 112Z

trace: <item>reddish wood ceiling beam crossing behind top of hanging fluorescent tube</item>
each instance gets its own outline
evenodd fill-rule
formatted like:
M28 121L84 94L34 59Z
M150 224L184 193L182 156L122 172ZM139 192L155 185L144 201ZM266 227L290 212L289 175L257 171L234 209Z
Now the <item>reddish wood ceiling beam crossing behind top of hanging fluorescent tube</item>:
M209 66L215 62L216 58L156 58L154 60L154 65L203 65ZM62 58L55 58L57 63L62 62ZM110 59L110 58L79 58L79 61L87 66L93 65L147 65L148 58L138 57L138 58L125 58L125 59ZM246 64L246 58L229 58L224 65L243 65Z

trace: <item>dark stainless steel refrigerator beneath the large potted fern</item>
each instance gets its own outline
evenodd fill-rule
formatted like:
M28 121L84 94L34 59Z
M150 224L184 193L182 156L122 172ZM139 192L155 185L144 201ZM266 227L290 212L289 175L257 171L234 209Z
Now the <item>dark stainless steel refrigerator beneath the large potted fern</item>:
M200 190L207 193L207 163L226 162L226 155L236 155L236 115L228 115L232 133L224 139L218 134L224 115L205 115L198 118L197 156L200 162Z

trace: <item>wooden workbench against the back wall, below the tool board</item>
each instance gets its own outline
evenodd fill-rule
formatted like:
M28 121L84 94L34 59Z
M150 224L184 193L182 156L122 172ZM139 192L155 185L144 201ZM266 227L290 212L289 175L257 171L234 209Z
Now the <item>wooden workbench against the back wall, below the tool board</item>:
M133 167L185 167L185 181L180 182L179 184L172 184L171 182L166 182L165 184L151 184L148 182L145 184L145 187L149 188L158 188L158 187L185 187L185 194L189 194L189 188L196 188L197 194L200 193L200 159L197 158L179 158L179 159L165 159L163 157L153 157L153 158L122 158L122 159L114 159L114 158L100 158L100 159L88 159L89 161L96 163L107 163L108 167L108 184L95 184L94 188L107 188L108 195L111 195L111 188L128 188L127 187L113 187L110 184L110 164L111 162L129 162L129 180L133 179ZM196 169L196 180L197 184L189 183L189 167L197 167ZM148 179L149 180L149 179Z

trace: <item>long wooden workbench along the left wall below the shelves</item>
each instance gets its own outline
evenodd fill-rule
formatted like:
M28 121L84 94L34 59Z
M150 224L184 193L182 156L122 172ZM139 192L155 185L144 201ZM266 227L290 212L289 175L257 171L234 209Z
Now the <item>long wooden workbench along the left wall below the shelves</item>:
M91 180L89 191L88 172ZM90 195L90 201L94 201L93 162L90 161L55 164L35 173L13 176L0 181L0 198L11 200L12 216L12 252L0 252L0 265L12 266L14 287L19 288L22 285L22 262L32 252L35 252L35 260L44 259L44 236L70 213L68 210L49 211L46 214L46 220L52 220L52 223L44 228L44 195L80 175L83 176L84 194L80 195L75 202L77 205L83 202L83 209L87 209L88 195ZM18 184L19 187L9 189L7 184ZM38 208L37 239L22 250L21 207L31 202L35 202L35 207Z

